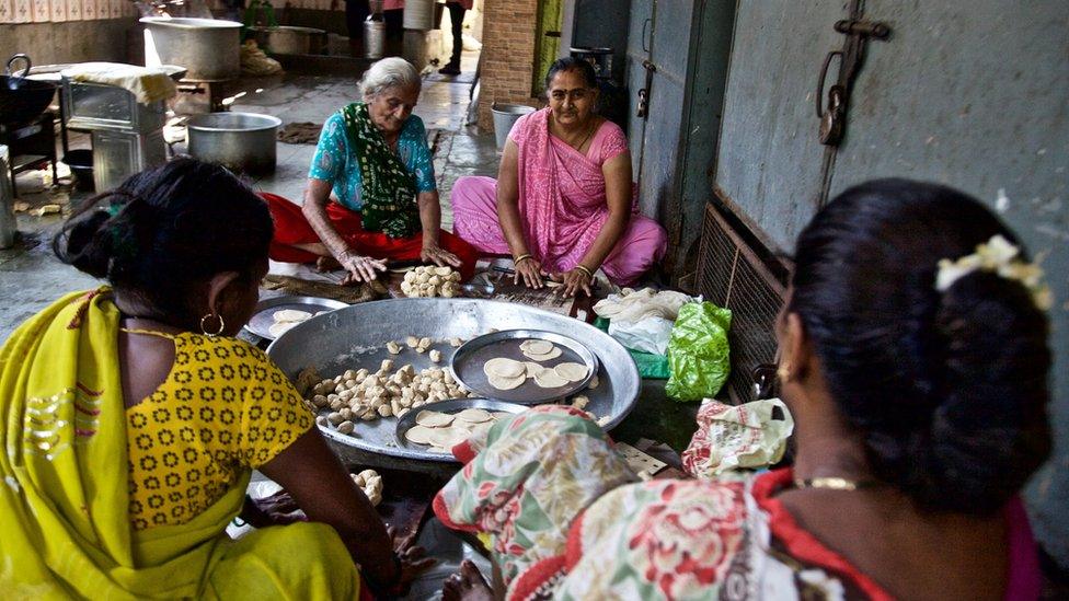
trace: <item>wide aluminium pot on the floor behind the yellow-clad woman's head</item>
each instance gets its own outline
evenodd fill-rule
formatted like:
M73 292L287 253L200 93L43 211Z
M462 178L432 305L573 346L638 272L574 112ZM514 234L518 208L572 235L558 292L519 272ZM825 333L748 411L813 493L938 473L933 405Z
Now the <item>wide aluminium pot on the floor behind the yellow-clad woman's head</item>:
M275 171L275 136L283 122L255 113L208 113L186 122L189 154L231 171Z

